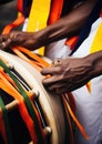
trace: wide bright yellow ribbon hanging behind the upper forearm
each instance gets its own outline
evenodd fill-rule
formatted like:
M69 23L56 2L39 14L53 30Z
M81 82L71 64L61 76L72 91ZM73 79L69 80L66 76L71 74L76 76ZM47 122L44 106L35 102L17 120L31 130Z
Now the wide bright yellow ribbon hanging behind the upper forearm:
M51 0L33 0L29 16L27 31L34 32L47 27L50 13ZM44 49L39 49L39 54L43 55Z

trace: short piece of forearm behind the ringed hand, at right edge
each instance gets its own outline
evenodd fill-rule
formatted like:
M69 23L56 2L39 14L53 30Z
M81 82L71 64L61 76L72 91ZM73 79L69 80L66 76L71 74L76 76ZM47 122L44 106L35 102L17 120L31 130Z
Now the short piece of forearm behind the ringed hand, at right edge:
M102 51L94 52L85 56L85 63L89 63L89 72L91 78L102 74Z

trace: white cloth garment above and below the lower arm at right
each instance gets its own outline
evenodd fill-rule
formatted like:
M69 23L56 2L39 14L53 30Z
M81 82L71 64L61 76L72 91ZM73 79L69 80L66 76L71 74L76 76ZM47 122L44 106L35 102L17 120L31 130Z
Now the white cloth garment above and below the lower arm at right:
M93 23L89 38L85 39L73 54L74 58L85 56L90 53L92 40L100 22L102 22L102 18L99 18ZM80 132L78 132L76 144L102 144L102 76L91 80L91 89L92 92L89 93L84 85L73 92L78 119L90 136L90 140L85 141Z

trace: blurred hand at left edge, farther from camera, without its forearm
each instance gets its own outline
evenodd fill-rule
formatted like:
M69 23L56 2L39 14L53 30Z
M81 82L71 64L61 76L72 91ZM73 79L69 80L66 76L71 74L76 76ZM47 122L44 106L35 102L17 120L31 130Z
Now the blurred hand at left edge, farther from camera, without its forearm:
M29 50L35 50L39 47L37 35L37 33L21 31L2 34L0 35L0 49L4 50L20 45Z

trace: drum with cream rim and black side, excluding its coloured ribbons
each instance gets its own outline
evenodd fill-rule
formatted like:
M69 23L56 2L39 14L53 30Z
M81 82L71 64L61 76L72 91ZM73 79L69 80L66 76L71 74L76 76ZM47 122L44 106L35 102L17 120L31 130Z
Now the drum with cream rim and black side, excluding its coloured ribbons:
M70 132L61 96L45 90L42 85L43 76L28 62L4 51L0 51L0 59L8 62L10 71L16 75L24 89L34 91L37 94L33 103L35 103L37 111L41 119L41 126L45 135L45 143L69 144ZM21 119L17 102L8 96L8 94L3 91L1 91L1 95L8 111L8 117L13 135L13 144L31 143L30 134ZM2 143L1 137L0 143Z

